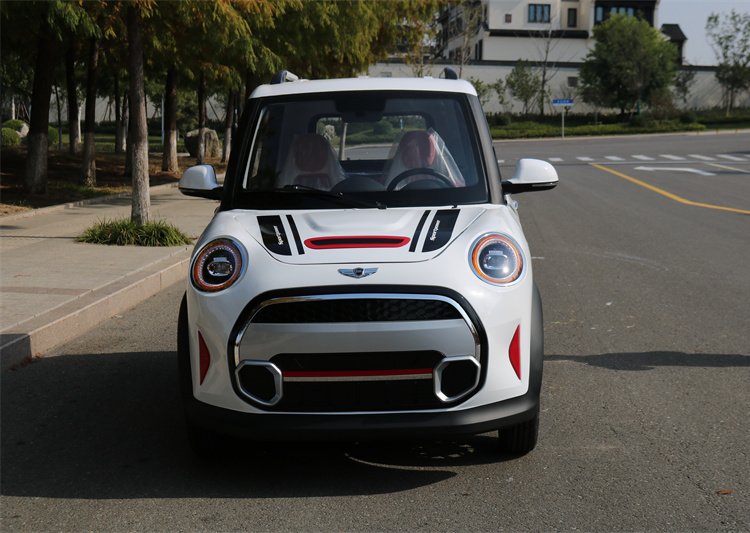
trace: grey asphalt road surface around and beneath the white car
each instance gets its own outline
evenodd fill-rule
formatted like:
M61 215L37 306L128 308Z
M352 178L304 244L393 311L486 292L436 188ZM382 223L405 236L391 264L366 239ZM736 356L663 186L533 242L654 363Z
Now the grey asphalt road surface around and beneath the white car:
M3 373L0 527L749 530L750 135L497 151L506 177L522 155L560 160L557 189L516 197L545 308L534 452L480 435L197 463L174 287Z

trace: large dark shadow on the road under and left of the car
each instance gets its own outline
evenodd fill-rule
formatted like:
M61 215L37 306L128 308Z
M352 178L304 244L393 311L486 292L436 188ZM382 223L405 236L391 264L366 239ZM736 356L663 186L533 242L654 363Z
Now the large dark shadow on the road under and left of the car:
M505 460L487 436L427 443L239 444L197 461L174 352L66 355L3 372L4 495L278 498L394 493Z

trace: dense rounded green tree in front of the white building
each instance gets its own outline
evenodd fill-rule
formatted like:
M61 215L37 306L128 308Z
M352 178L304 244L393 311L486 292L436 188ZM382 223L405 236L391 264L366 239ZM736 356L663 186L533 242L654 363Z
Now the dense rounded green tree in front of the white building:
M677 49L645 20L613 15L594 27L594 48L581 67L583 94L608 107L640 112L674 79Z

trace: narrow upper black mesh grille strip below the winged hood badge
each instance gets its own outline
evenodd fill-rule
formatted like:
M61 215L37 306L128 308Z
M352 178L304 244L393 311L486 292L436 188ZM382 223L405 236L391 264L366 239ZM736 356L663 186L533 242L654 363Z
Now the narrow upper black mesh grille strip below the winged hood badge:
M268 305L252 319L260 324L453 320L461 314L441 300L367 298L304 300Z

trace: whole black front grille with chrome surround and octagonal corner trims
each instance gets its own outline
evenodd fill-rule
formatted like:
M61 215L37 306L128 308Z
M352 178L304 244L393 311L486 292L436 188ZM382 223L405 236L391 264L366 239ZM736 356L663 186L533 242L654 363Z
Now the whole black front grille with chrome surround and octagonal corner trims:
M284 295L249 310L235 343L236 385L267 411L444 409L479 386L477 329L453 298Z

